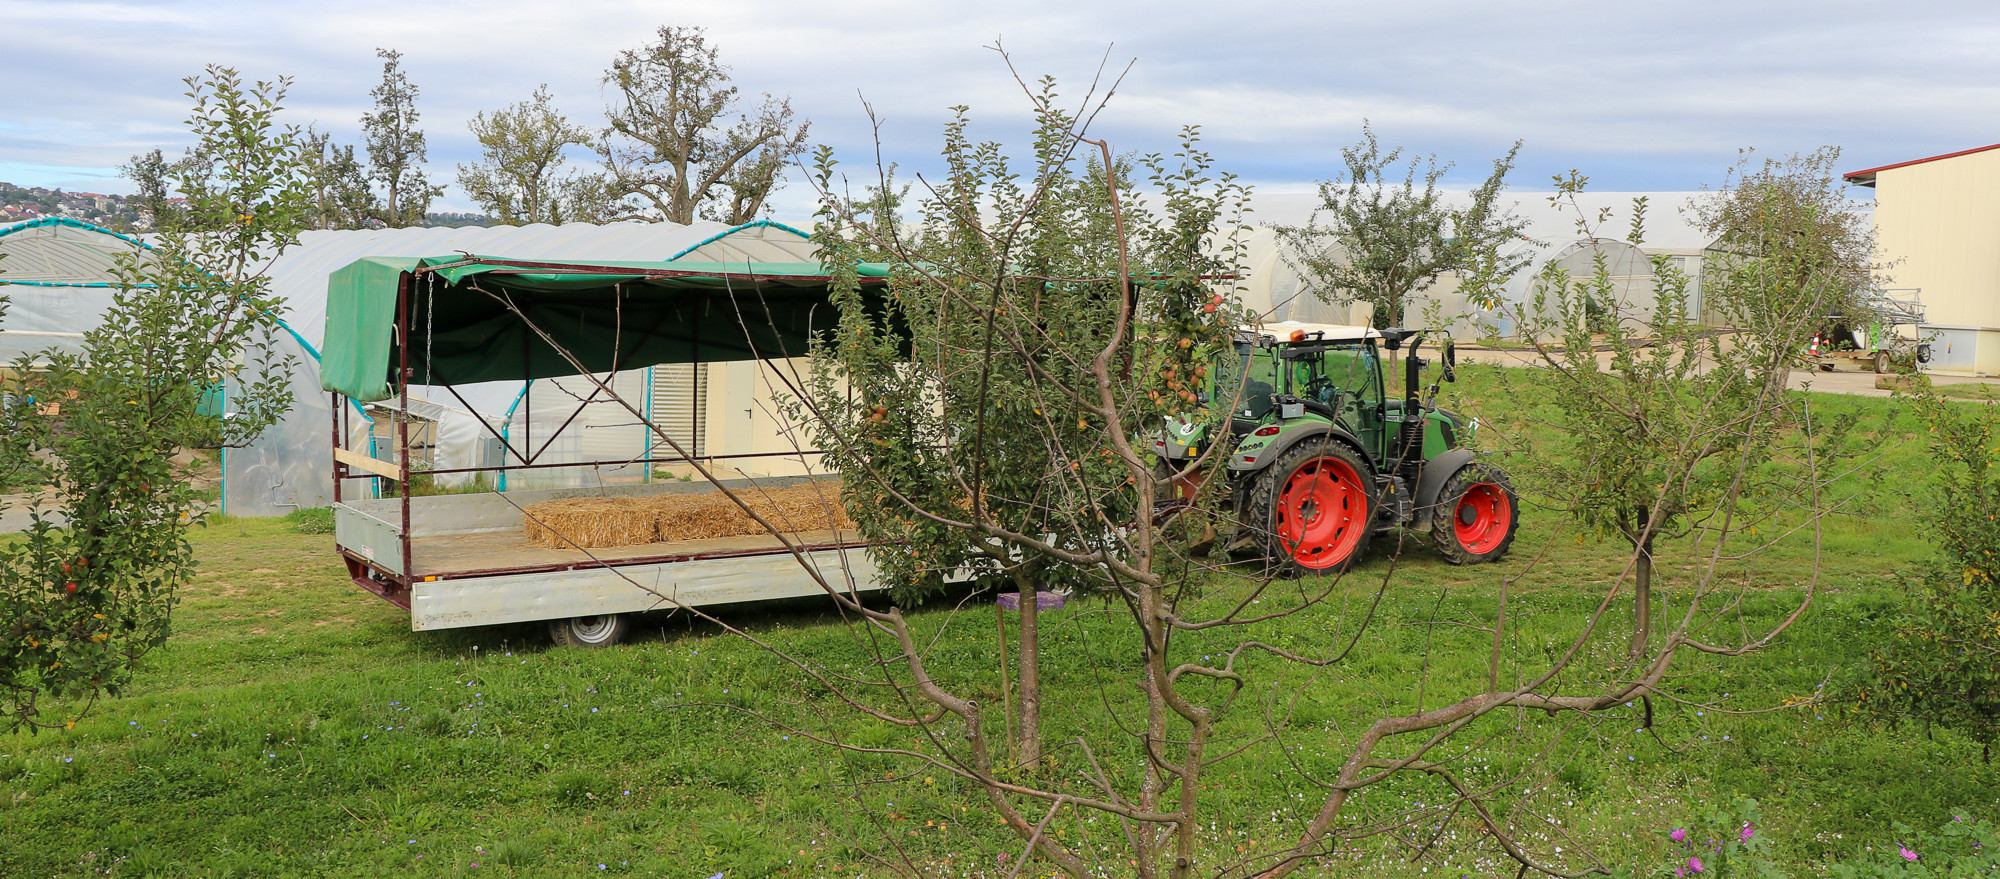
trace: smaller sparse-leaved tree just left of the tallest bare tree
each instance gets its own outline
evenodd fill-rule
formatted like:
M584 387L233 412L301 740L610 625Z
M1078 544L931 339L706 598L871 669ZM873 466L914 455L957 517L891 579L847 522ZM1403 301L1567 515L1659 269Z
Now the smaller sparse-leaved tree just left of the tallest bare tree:
M458 166L458 186L494 220L562 226L606 214L604 176L564 172L562 152L592 146L592 138L554 108L548 84L520 104L480 112L468 128L482 156Z

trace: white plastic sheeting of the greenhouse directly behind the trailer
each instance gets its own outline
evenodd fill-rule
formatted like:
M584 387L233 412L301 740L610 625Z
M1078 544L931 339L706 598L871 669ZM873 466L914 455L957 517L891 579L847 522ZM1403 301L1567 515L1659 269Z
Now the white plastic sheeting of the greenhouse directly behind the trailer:
M326 330L326 278L364 256L442 256L486 254L516 260L672 260L692 262L814 262L812 242L804 232L774 222L724 226L698 222L678 224L568 224L568 226L494 226L494 228L422 228L422 230L360 230L306 232L300 244L272 262L272 294L286 302L284 320L296 336L280 338L270 354L290 356L300 368L292 376L292 412L272 426L250 447L226 449L222 465L222 509L230 515L282 515L298 507L332 503L332 412L330 398L320 390L318 348ZM420 338L412 342L422 342ZM628 388L644 388L644 372L620 376L620 396ZM530 396L530 406L518 406L520 382L492 382L456 388L460 406L444 388L412 388L412 410L420 418L438 420L436 467L466 467L482 461L480 449L490 434L478 424L514 426L534 422L536 445L554 432L580 400L588 398L586 380L566 380L568 388L546 388ZM576 388L584 388L576 394ZM418 406L422 400L432 410ZM640 398L634 398L640 400ZM370 422L352 414L354 436L348 447L370 447ZM642 457L646 432L622 408L600 400L564 430L564 441L540 461L580 461L592 457ZM376 449L388 457L390 449ZM540 463L538 461L538 463ZM630 467L634 473L640 467ZM618 479L586 467L560 467L534 473L536 487ZM470 475L440 477L440 483L468 481ZM348 483L358 491L368 481ZM526 487L526 485L510 485Z

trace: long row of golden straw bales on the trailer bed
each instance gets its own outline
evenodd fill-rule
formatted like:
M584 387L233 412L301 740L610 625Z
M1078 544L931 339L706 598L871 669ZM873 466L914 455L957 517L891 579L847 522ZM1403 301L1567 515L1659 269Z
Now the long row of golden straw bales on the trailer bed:
M852 529L840 507L840 483L744 487L736 491L750 509L784 531ZM526 507L528 541L552 549L632 545L766 533L722 491L658 493L646 497L572 497ZM536 521L540 519L540 521ZM564 539L568 537L568 539Z

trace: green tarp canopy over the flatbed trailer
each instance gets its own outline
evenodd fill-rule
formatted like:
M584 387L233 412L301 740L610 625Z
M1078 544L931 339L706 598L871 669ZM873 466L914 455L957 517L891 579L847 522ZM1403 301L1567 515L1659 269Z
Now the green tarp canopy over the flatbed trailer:
M864 282L886 266L858 266ZM798 358L838 314L820 264L366 258L328 280L320 388L388 400L396 292L410 292L410 384L518 382L654 364ZM526 320L524 320L526 318ZM530 326L532 324L532 326ZM540 334L536 332L540 330Z

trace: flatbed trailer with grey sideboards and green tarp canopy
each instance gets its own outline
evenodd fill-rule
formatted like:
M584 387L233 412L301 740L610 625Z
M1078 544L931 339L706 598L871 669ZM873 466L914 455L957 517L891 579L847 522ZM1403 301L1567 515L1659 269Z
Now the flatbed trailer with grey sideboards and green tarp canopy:
M886 268L858 266L864 290ZM524 509L562 497L734 491L814 477L746 477L484 491L412 497L408 418L394 422L390 459L358 445L350 406L398 400L410 386L592 376L654 364L778 360L804 354L828 330L830 278L812 264L562 264L490 256L368 258L332 274L322 388L334 394L334 545L362 589L410 611L410 629L548 621L558 643L602 647L630 613L740 601L856 595L882 589L856 533L772 531L666 539L598 549L528 541ZM598 394L610 386L598 384ZM598 400L592 394L590 400ZM588 406L584 400L580 406ZM466 404L470 410L472 406ZM506 463L430 469L506 473L538 467L688 465L714 473L768 453L694 455L636 408L626 410L668 449L618 461L544 461L552 436L508 438L486 424ZM578 408L582 412L582 408ZM574 422L576 416L570 416ZM564 422L556 434L570 428ZM484 424L484 420L482 420ZM352 440L352 441L350 441ZM790 455L810 455L800 449ZM348 485L388 479L392 497L352 497ZM822 481L828 503L840 483Z

